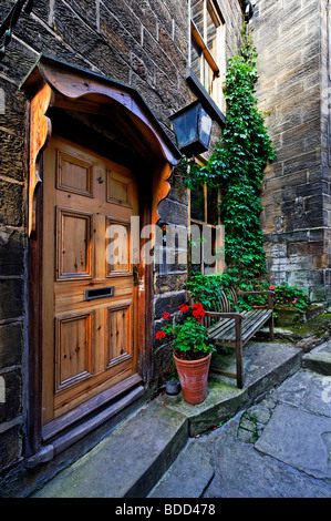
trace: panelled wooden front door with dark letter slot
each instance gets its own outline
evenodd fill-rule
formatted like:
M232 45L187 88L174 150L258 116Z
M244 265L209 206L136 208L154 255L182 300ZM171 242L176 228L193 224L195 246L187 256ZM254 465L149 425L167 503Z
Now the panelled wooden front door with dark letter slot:
M42 422L50 425L137 372L130 243L138 196L128 168L61 137L45 151L43 185Z

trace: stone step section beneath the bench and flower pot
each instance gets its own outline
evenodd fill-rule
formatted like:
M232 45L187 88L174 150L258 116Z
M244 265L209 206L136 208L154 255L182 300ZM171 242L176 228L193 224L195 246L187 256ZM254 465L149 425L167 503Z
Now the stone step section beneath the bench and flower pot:
M281 384L301 368L302 351L289 344L251 341L244 349L245 387L238 389L236 380L213 372L218 366L229 372L236 370L235 354L227 360L215 360L210 368L207 398L203 403L186 403L180 395L159 396L156 401L180 412L188 419L189 436L196 436L227 421L237 411Z

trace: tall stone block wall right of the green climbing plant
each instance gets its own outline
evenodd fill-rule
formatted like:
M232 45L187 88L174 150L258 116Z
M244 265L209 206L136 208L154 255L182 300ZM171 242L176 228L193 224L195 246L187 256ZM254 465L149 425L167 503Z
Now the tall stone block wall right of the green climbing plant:
M328 2L255 3L257 96L278 153L262 186L269 269L277 284L330 299Z

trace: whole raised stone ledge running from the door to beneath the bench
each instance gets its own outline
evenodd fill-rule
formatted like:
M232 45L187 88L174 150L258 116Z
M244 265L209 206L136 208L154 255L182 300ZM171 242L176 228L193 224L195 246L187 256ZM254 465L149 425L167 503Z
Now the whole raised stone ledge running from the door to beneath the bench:
M189 437L230 419L258 396L283 381L300 367L299 351L285 344L248 344L245 348L246 388L237 389L235 380L230 385L226 378L214 379L211 374L207 398L198 406L186 403L182 394L158 396L33 497L147 497L180 456ZM250 371L247 370L249 365L254 366ZM200 484L196 483L185 493L198 494L197 488L204 488L210 479L210 467L204 462Z

